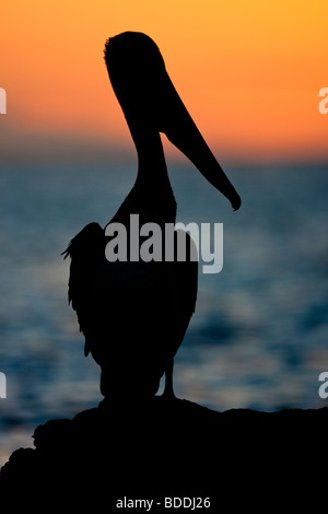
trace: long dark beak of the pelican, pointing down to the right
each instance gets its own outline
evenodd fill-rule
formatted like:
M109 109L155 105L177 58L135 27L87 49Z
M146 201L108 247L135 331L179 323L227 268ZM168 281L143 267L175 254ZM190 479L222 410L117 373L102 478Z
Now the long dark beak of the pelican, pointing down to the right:
M164 132L168 140L192 162L209 183L229 199L232 208L235 211L238 210L242 205L239 195L202 138L168 74L165 74L160 131Z

